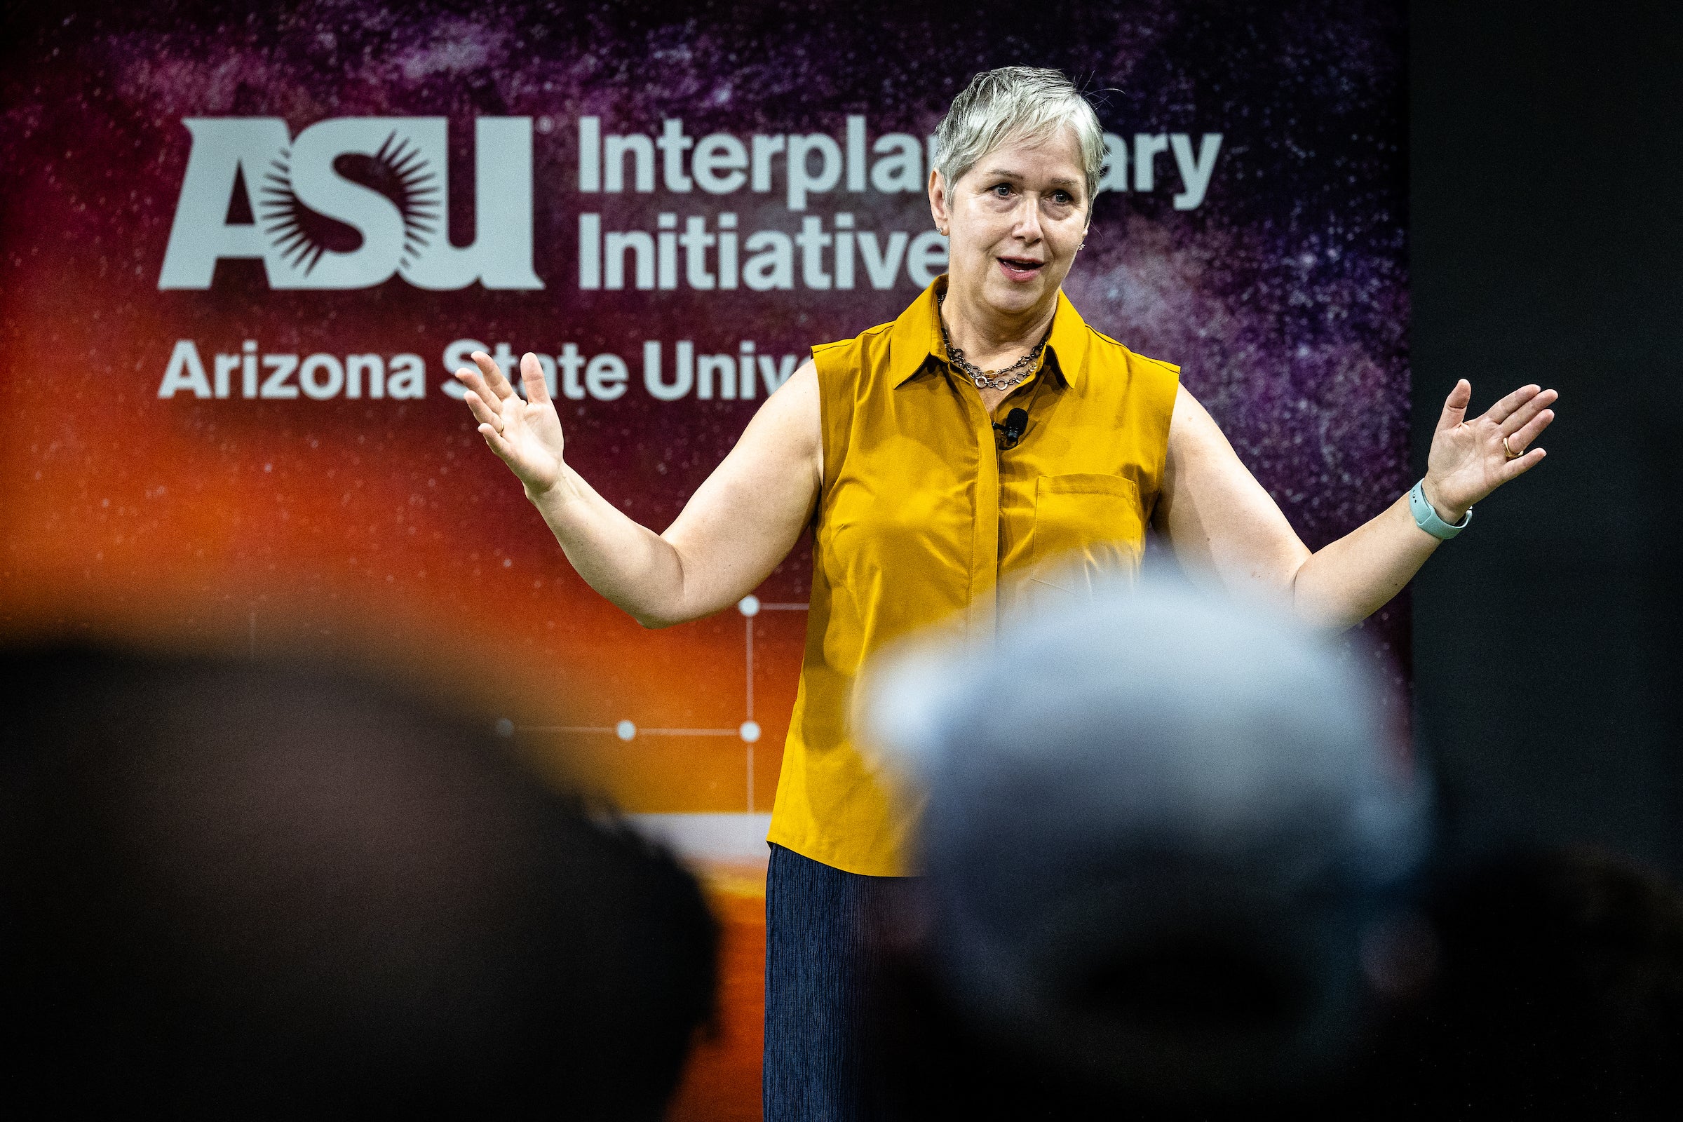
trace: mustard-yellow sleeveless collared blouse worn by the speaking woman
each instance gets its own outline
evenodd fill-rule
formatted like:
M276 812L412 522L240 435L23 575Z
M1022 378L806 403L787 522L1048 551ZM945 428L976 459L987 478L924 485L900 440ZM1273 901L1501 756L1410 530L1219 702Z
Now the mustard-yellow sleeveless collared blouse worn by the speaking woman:
M813 348L825 476L801 681L769 841L850 873L899 876L916 807L848 733L863 663L914 631L990 641L1001 617L1136 570L1156 506L1180 368L1082 321L1062 293L1040 368L990 415L946 362L936 294ZM993 422L1028 410L996 451Z

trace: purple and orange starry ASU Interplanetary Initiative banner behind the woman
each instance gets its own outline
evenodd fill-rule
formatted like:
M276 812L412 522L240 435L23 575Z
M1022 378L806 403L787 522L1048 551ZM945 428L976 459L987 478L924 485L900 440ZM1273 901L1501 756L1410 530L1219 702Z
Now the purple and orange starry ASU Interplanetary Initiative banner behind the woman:
M646 632L448 372L542 355L569 461L663 528L813 343L946 261L931 133L1057 66L1109 168L1067 291L1311 547L1407 479L1400 3L162 5L3 77L3 612L401 659L640 812L766 812L803 542ZM1405 664L1405 606L1368 624ZM559 740L559 737L552 737Z

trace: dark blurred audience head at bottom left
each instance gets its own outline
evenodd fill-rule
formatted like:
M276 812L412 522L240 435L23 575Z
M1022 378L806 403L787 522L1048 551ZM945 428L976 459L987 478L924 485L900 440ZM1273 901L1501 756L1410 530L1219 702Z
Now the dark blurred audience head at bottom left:
M488 722L303 666L10 651L0 683L12 1117L661 1115L714 920Z

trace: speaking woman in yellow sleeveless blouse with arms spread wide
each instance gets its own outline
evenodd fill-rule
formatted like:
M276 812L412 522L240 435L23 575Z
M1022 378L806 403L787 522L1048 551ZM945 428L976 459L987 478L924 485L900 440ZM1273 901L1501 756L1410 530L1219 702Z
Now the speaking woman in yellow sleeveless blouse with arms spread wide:
M1104 160L1057 71L976 76L929 175L951 266L892 325L813 348L683 513L655 533L562 456L534 357L522 402L485 353L458 373L480 432L591 587L650 627L751 592L815 525L801 685L766 885L766 1117L853 1117L860 917L905 871L907 814L847 733L863 659L912 629L990 638L1001 614L1138 564L1148 520L1192 574L1343 627L1390 601L1473 503L1543 458L1553 390L1466 421L1451 390L1426 479L1311 553L1178 368L1092 331L1060 286ZM1006 422L1015 410L1027 426ZM998 429L1010 429L1003 434ZM1018 432L1020 431L1020 432ZM1010 683L1001 683L1008 693Z

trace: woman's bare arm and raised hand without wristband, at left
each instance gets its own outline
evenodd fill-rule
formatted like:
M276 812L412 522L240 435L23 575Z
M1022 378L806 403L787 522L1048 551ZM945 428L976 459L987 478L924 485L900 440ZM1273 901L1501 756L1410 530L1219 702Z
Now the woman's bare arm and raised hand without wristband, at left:
M645 627L717 612L754 590L811 516L823 478L818 373L811 362L766 399L724 463L655 533L614 508L564 459L560 419L537 358L520 363L527 400L483 352L458 370L480 434L525 484L584 580Z

